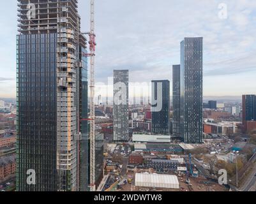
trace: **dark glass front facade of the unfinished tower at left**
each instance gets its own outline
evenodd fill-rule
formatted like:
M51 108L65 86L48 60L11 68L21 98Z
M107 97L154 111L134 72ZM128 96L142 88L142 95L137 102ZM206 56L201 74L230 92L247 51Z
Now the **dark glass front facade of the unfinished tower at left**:
M17 36L17 191L57 190L56 49L56 33Z

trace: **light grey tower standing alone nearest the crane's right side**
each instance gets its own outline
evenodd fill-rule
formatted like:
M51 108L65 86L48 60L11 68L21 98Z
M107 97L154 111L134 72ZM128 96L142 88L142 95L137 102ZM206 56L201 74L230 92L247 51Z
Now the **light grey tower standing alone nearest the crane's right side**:
M114 141L129 140L129 71L114 70Z

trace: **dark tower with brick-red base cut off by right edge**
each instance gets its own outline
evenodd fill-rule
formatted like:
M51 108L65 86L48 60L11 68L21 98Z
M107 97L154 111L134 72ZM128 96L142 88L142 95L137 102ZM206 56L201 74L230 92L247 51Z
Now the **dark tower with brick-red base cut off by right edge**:
M256 95L243 95L243 126L246 133L256 130Z

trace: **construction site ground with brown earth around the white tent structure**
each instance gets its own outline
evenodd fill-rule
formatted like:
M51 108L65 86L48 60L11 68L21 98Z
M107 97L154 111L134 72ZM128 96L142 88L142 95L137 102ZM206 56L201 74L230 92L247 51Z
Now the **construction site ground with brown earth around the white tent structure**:
M130 145L109 144L98 191L229 191L197 168L192 154L152 155Z

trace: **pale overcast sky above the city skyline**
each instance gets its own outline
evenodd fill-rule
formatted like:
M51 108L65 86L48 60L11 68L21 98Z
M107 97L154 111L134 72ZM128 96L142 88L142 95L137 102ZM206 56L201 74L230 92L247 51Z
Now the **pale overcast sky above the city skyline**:
M202 36L204 95L256 94L256 1L95 1L97 82L107 83L113 69L129 69L130 82L171 80L180 41ZM219 17L222 3L226 19ZM89 31L89 0L79 0L79 11L82 31ZM0 97L10 98L16 87L17 1L3 1L0 15Z

